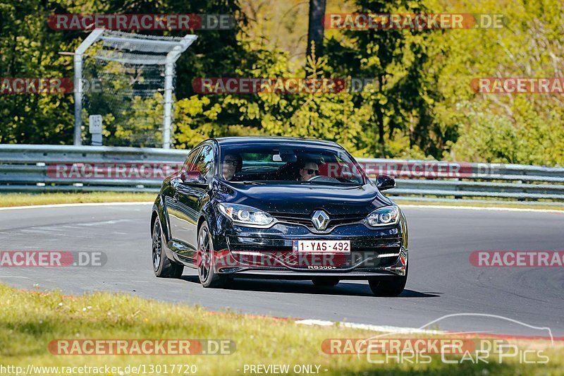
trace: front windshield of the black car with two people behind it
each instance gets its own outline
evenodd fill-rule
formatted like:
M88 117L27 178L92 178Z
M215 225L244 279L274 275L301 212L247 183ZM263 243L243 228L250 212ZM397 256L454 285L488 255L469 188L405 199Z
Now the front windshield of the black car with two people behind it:
M364 184L364 175L339 147L223 145L220 175L233 183Z

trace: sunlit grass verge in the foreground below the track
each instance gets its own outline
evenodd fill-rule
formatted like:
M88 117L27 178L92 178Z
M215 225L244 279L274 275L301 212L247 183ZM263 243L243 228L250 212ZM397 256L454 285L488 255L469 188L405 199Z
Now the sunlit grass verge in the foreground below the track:
M0 284L0 364L42 366L195 364L198 375L243 374L245 364L317 364L321 375L562 375L563 347L548 348L546 365L371 364L362 356L328 355L321 342L329 338L368 338L374 332L338 325L309 327L292 320L211 313L127 295L94 293L77 298L61 293L30 293ZM395 337L397 338L397 336ZM56 356L53 339L231 339L236 351L222 356ZM526 346L546 346L525 341ZM241 372L237 372L237 370ZM326 371L325 371L326 370ZM47 373L48 374L48 373ZM170 373L169 373L170 374ZM178 374L178 373L175 373ZM247 375L249 373L247 372Z

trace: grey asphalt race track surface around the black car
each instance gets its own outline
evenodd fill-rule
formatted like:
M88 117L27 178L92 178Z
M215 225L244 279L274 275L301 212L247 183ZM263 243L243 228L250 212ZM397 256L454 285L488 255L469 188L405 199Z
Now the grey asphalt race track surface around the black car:
M376 298L366 281L317 288L311 281L235 280L203 289L195 270L158 279L151 265L151 205L0 210L0 250L101 251L103 267L1 267L0 281L66 294L121 291L212 310L432 328L564 336L563 267L474 267L474 250L564 250L564 213L406 207L410 275L398 298ZM504 318L505 317L505 318ZM510 320L516 320L512 322ZM529 326L526 326L529 325Z

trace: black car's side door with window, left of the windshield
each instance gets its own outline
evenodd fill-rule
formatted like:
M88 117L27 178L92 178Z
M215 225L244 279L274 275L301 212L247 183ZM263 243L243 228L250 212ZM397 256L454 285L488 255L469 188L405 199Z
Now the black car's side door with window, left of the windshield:
M177 212L173 237L181 245L177 252L192 260L197 249L197 222L200 210L208 198L208 183L214 172L213 148L204 145L201 149L195 159L188 163L184 179L174 183L176 190L173 200Z

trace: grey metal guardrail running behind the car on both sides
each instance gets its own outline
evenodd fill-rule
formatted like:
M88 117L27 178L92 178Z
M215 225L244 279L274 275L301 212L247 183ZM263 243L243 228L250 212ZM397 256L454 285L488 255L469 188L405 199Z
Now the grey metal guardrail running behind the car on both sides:
M186 154L188 150L139 147L0 145L0 192L157 192L164 176L179 168ZM387 190L386 195L423 201L494 198L564 205L564 168L400 159L358 161L371 178L378 174L396 177L397 188ZM92 169L84 174L84 166L102 167L94 176ZM112 166L114 176L108 176L103 166ZM128 166L128 171L115 174L123 166Z

